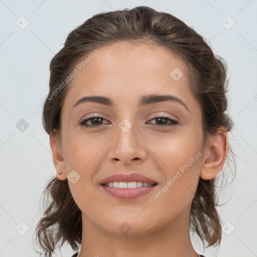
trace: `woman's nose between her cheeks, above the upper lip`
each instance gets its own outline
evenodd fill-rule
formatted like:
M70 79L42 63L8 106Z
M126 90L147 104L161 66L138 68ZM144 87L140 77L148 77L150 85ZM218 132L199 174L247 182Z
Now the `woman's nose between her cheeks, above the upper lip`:
M146 148L136 125L132 125L126 132L117 127L116 136L112 140L108 152L108 159L111 162L120 162L126 165L132 161L141 163L147 158Z

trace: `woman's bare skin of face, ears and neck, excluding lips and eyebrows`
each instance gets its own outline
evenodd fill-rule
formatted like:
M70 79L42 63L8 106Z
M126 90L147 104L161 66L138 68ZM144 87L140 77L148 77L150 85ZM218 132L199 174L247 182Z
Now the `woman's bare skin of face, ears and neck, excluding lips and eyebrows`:
M209 144L204 142L201 109L188 86L185 63L167 49L122 42L98 50L69 85L61 113L60 142L50 135L58 179L67 179L73 170L80 175L74 184L68 179L82 212L80 257L198 256L189 233L190 207L199 177L212 179L222 169L228 151L227 133L223 128L208 138ZM184 73L178 81L170 76L175 67ZM189 111L174 101L138 107L140 97L149 94L174 95ZM73 108L77 100L92 95L110 97L116 106L86 102ZM79 125L89 113L104 119L100 123L87 121L94 128ZM161 115L179 124L158 127L155 117ZM118 126L124 118L132 124L127 132ZM170 123L169 119L159 121ZM151 203L150 197L197 152L201 157ZM132 172L157 181L157 187L140 198L120 200L99 185L110 175ZM127 234L119 230L124 222L131 227Z

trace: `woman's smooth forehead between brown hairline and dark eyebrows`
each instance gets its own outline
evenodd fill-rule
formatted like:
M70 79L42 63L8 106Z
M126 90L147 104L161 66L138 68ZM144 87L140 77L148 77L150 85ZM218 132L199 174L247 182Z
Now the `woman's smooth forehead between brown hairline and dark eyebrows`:
M81 57L74 67L77 75L64 103L69 108L85 95L104 95L126 104L151 93L172 93L184 101L192 97L184 61L163 46L119 42L97 50Z

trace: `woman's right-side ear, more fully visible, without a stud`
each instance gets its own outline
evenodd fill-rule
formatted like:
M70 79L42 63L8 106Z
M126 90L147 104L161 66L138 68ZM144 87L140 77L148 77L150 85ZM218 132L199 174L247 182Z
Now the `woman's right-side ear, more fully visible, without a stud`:
M200 178L213 179L221 171L228 153L227 131L223 126L218 128L216 135L208 137L203 152Z

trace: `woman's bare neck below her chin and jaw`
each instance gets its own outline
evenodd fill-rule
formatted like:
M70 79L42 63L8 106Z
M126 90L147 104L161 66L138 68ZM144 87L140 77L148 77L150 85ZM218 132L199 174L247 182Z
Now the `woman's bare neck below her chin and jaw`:
M196 253L190 238L189 212L184 217L179 217L174 222L165 224L151 232L132 233L126 235L109 232L97 226L82 214L82 240L79 255L105 256L105 257L130 257L150 256L155 257L180 257L195 256ZM78 256L79 256L78 255Z

